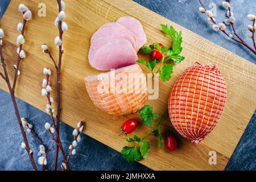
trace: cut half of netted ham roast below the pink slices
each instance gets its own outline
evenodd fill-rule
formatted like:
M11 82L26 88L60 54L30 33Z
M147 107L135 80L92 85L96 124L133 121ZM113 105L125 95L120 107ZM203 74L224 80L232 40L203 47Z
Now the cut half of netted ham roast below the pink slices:
M115 116L135 113L147 100L146 76L138 64L85 77L85 85L94 105Z

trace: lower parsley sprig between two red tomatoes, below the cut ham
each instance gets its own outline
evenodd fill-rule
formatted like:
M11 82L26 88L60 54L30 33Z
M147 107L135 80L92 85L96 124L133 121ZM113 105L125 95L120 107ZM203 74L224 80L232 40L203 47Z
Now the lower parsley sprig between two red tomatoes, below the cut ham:
M158 121L143 138L139 138L137 135L134 135L133 138L126 138L126 142L129 142L129 143L135 142L135 145L133 147L125 146L121 151L123 158L125 158L127 162L134 162L135 160L139 161L143 158L147 158L148 152L150 150L150 142L145 141L145 139L151 133L153 133L154 135L155 134L158 135L159 137L158 146L160 148L162 147L162 143L161 143L162 135L160 133L160 127L167 113L168 113L168 110L166 110L164 114L160 115L160 117L158 118ZM157 114L153 113L152 106L150 105L144 106L143 109L140 111L140 114L142 117L142 122L148 127L150 127L152 125L152 122L157 118Z

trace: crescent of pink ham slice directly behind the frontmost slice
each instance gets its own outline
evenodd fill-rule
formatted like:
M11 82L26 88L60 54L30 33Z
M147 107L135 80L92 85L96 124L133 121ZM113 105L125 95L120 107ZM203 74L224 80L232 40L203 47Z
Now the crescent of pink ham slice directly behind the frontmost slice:
M118 28L118 27L103 27L99 28L90 39L90 43L93 43L95 39L101 36L118 36L119 38L127 39L131 45L133 45L135 51L137 52L137 38L135 35L131 34L127 28Z

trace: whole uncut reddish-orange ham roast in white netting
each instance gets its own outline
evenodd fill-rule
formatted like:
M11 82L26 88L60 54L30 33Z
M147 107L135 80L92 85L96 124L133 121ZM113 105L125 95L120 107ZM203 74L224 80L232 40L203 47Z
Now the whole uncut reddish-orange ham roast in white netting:
M220 119L226 102L226 84L217 67L188 67L169 98L172 125L193 144L201 142Z

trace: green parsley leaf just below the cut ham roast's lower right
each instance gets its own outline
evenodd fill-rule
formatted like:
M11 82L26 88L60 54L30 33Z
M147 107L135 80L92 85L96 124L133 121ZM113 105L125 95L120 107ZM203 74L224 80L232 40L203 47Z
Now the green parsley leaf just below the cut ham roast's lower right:
M142 110L139 111L139 114L141 114L142 123L148 127L152 125L153 121L158 116L156 113L153 113L153 107L150 105L144 106Z

